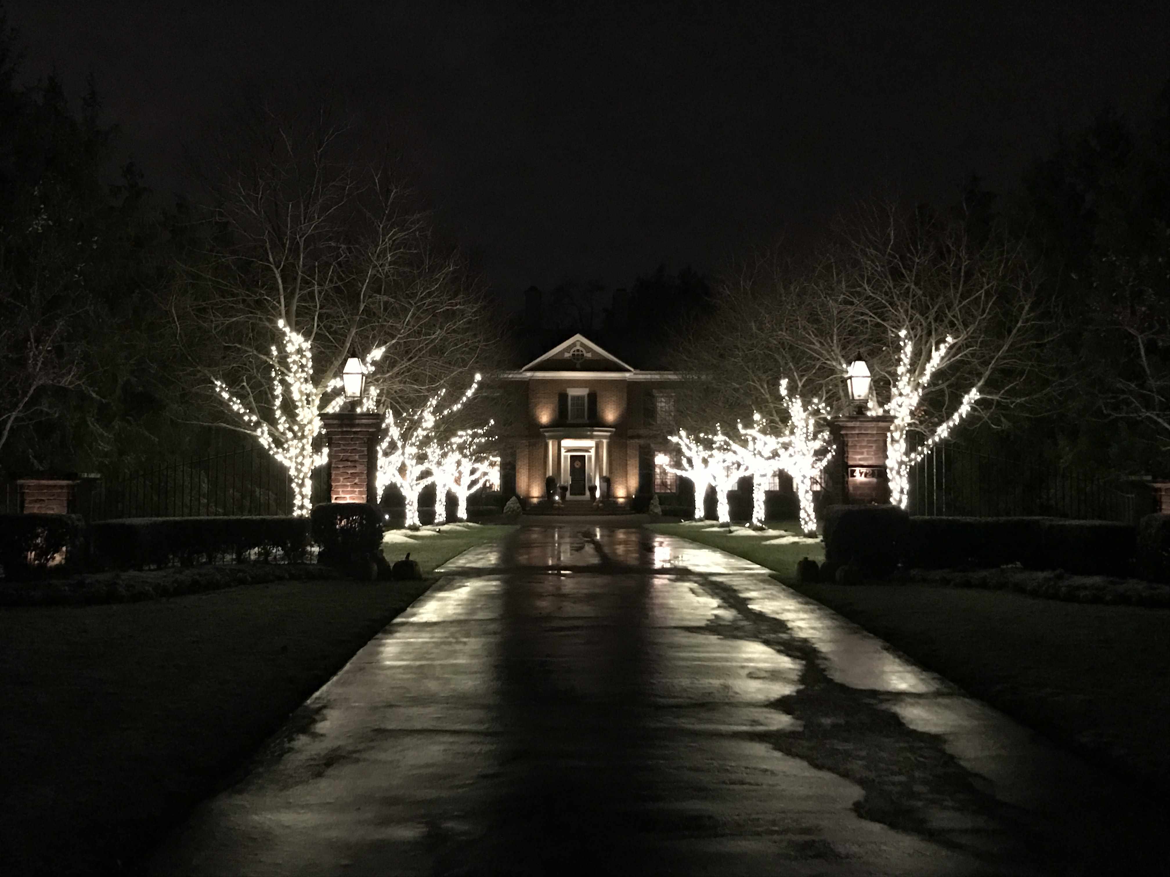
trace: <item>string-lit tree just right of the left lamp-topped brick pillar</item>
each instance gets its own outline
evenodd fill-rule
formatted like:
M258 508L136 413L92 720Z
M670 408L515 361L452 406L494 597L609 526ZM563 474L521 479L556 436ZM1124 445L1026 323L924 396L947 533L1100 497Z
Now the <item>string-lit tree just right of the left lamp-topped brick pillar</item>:
M383 420L385 435L378 443L378 496L381 496L391 484L402 492L406 504L406 526L420 526L419 493L427 484L436 481L433 463L440 455L435 453L434 446L439 440L441 422L462 408L467 400L475 395L479 386L480 374L476 374L462 398L442 412L436 409L447 394L446 389L435 393L422 407L402 412L397 416L393 409L386 409ZM445 503L446 499L441 502ZM439 513L439 505L440 502L436 500L435 515Z

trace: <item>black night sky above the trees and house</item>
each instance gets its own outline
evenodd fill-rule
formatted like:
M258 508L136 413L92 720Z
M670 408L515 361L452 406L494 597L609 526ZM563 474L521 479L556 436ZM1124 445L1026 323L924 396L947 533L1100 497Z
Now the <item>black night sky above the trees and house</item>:
M870 194L1013 185L1058 130L1136 120L1170 4L8 0L26 71L92 69L166 192L233 97L344 94L500 291L717 270Z

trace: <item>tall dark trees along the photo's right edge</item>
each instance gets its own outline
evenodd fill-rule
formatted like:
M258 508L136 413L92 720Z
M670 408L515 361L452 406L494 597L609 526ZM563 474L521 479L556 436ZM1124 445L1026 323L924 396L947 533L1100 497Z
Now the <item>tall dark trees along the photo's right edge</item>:
M1062 134L1010 192L972 180L970 233L1002 228L1040 268L1060 373L1053 405L1011 440L1062 463L1170 474L1170 84L1151 119L1102 112Z

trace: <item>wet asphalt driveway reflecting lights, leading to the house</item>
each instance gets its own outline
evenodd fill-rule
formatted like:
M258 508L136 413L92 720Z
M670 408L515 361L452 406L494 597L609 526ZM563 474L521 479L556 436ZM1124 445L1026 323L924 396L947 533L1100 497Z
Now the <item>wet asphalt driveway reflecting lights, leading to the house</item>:
M566 523L443 572L153 872L1165 865L1164 813L748 561Z

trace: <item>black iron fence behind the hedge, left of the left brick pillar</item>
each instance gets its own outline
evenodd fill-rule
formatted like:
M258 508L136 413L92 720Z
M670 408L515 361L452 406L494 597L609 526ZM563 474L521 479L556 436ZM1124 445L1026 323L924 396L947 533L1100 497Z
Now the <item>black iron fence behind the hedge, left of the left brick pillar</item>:
M4 484L4 511L20 511L14 481ZM314 503L326 502L329 467L314 472ZM219 517L291 515L292 483L288 469L263 448L227 450L205 457L177 458L121 476L82 478L71 511L87 520L113 518Z

